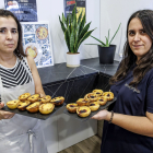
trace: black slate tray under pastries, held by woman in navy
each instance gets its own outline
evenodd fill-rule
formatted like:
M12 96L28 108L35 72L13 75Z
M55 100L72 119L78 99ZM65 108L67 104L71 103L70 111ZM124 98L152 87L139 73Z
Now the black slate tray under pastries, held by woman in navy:
M115 97L113 101L109 101L105 105L99 106L99 108L96 111L91 111L90 116L87 116L87 117L80 117L80 116L78 116L78 114L73 114L73 113L68 111L67 108L63 110L63 113L67 114L67 115L69 115L69 116L71 116L71 117L74 117L75 119L79 119L80 121L86 121L91 117L93 117L95 114L97 114L99 110L103 110L103 109L107 108L110 104L113 104L114 102L116 102L116 99L117 98Z

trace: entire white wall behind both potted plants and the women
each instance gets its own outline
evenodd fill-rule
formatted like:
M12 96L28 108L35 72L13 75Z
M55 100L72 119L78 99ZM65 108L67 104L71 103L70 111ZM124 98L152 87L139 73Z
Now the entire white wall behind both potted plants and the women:
M64 43L63 33L61 31L58 15L63 12L63 0L36 0L38 21L49 21L50 34L52 39L52 50L55 63L66 61L66 52L68 51ZM0 8L4 8L4 1L0 0ZM110 36L116 32L119 23L121 27L113 40L117 45L116 58L118 54L122 52L123 44L126 42L126 26L129 16L137 10L152 9L152 0L86 0L86 22L91 22L90 30L97 27L93 32L93 36L105 42L108 30L110 28ZM79 48L81 59L94 58L98 56L97 46L84 45L90 43L97 43L92 37L89 37Z

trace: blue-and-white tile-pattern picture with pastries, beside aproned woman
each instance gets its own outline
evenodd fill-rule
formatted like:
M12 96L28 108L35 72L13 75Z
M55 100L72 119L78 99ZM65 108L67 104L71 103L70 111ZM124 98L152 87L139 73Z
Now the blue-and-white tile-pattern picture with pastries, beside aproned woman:
M37 68L54 66L49 22L21 22L23 47L34 58Z

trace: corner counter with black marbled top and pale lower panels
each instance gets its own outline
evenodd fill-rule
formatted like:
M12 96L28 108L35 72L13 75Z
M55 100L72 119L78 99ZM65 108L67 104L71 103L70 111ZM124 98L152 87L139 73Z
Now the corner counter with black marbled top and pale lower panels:
M75 103L94 89L109 90L109 78L115 74L119 62L99 64L98 58L81 60L78 68L64 63L39 68L38 73L46 94L63 96L64 103ZM97 133L97 120L80 120L63 114L62 107L47 120L42 121L48 153L57 153Z

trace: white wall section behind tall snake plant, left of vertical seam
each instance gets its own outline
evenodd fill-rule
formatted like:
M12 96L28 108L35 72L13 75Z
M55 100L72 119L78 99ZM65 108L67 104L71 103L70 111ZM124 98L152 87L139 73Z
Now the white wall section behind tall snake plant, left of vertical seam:
M63 12L63 0L37 0L37 12L38 21L50 23L55 63L66 62L68 48L59 23L59 15ZM86 23L91 21L90 30L97 27L93 34L99 38L99 0L86 0ZM84 45L92 40L93 38L89 37L79 48L81 59L97 57L96 46Z

